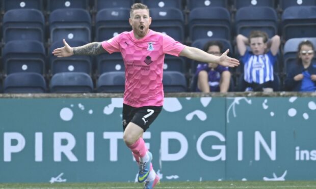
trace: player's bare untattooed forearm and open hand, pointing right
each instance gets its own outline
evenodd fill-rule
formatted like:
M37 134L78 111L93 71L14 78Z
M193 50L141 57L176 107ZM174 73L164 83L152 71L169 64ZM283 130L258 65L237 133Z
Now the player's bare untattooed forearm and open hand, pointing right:
M239 65L239 60L227 56L229 49L227 49L221 56L215 56L201 49L186 46L181 52L180 56L186 56L200 62L211 62L226 67L236 67Z

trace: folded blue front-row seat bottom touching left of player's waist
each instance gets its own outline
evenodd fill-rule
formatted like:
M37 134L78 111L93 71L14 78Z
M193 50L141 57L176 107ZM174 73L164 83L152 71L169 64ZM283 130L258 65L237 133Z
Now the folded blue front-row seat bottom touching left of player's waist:
M97 81L97 92L124 92L125 72L106 72Z

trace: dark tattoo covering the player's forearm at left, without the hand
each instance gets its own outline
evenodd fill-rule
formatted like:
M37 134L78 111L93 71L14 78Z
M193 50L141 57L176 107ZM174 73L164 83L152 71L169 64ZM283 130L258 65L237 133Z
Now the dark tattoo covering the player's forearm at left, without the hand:
M97 55L106 52L100 42L88 43L84 46L74 47L74 55Z

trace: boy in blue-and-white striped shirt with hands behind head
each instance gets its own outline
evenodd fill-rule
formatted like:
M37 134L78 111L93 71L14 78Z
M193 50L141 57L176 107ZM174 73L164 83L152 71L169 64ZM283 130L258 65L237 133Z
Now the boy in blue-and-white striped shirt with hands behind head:
M268 41L267 33L251 31L249 38L236 37L238 51L244 64L244 79L239 83L241 91L273 91L273 65L280 46L280 37L275 35ZM250 46L251 51L247 49ZM270 47L270 50L268 48Z

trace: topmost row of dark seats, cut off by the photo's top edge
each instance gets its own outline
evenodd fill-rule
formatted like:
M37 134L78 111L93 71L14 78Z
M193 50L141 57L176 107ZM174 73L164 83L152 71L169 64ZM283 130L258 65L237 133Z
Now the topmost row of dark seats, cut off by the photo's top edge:
M31 8L47 12L61 8L81 8L98 11L103 8L130 8L133 3L144 3L149 8L177 8L180 10L192 10L199 7L240 9L249 6L267 6L284 10L291 6L316 6L314 0L1 0L0 8L4 12L17 8Z

